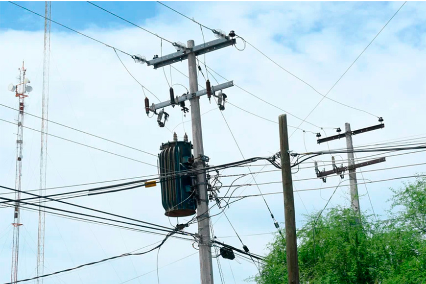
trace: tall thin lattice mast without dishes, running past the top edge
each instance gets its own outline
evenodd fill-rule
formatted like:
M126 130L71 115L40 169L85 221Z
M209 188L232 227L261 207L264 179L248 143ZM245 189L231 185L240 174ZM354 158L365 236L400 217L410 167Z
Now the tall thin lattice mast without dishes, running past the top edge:
M49 61L50 61L50 5L45 1L45 49L43 65L43 106L42 106L42 141L40 150L40 196L46 195L46 164L47 164L47 118L49 103ZM39 204L45 205L44 198ZM43 275L45 261L45 209L39 207L39 232L37 243L37 276ZM37 278L37 284L43 283L43 278Z

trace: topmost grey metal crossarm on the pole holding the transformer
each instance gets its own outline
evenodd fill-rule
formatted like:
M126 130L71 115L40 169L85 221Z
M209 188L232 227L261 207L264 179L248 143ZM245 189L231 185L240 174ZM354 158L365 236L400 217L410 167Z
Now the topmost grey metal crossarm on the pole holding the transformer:
M186 60L188 59L188 54L192 52L195 53L195 56L198 56L198 55L201 55L213 50L217 50L223 47L229 47L229 46L235 45L236 43L237 43L236 39L229 39L228 37L220 38L202 45L185 48L185 50L167 54L162 57L146 60L145 62L148 66L152 65L154 66L154 69L157 69L159 67L173 64L175 62Z

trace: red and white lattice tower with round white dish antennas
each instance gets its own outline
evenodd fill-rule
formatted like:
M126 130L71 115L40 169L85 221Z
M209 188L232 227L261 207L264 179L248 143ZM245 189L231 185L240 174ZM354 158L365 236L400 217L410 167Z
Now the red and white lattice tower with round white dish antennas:
M18 111L18 133L16 140L16 178L15 178L15 200L21 199L21 179L22 179L22 159L23 159L23 130L24 130L24 100L27 93L32 91L32 87L27 85L30 81L25 77L26 69L24 62L22 68L19 69L19 84L9 84L9 91L15 92L15 96L19 98ZM13 214L13 243L12 243L12 273L10 282L16 283L18 280L18 254L19 254L19 229L22 224L19 222L19 202L15 202Z

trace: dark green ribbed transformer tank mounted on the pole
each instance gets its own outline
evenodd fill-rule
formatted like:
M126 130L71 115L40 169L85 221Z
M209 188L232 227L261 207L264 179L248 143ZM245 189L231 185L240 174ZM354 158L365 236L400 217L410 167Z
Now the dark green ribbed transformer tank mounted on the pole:
M174 141L160 147L159 167L161 199L169 217L183 217L195 214L197 207L192 191L192 179L188 174L180 174L190 169L192 144L187 141Z

